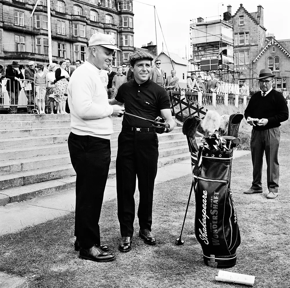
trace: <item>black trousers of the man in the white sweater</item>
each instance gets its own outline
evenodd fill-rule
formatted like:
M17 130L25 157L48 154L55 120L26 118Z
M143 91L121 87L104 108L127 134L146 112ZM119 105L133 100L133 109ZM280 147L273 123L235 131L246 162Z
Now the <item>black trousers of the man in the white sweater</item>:
M82 248L100 246L99 219L111 161L110 140L70 133L68 149L77 174L75 236Z

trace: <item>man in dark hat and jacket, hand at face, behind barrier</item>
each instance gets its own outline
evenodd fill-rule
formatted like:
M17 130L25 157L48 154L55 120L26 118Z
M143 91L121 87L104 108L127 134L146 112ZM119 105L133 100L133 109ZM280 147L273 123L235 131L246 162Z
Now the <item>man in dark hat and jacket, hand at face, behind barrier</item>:
M17 61L13 61L11 67L6 69L5 78L9 79L6 83L6 90L10 96L10 104L16 106L10 106L11 113L17 113L18 94L21 90L21 79L24 79L23 74L19 70L19 64Z

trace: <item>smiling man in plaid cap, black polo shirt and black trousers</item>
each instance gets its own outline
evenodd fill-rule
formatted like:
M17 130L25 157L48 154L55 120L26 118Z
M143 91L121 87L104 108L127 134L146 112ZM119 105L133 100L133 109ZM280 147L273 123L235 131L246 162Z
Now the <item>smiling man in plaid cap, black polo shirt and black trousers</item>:
M138 219L139 236L149 245L156 240L151 234L154 180L157 173L157 133L170 132L175 122L171 116L166 90L149 79L153 57L149 53L135 52L130 56L133 81L122 84L111 104L125 104L125 111L146 119L162 116L165 126L152 127L152 122L124 114L122 131L118 138L116 159L118 219L122 239L121 252L131 250L135 218L134 193L136 175L140 195Z

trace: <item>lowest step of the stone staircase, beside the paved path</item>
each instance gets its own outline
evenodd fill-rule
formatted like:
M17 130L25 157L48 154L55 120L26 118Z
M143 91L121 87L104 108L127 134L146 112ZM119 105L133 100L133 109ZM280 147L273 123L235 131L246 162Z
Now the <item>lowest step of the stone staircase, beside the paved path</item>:
M190 159L190 153L182 153L179 155L172 155L169 157L159 157L158 168L177 163L186 159ZM108 178L115 177L115 169L109 170ZM53 179L40 183L29 184L25 186L18 186L0 190L0 206L9 203L25 201L38 196L43 196L55 192L61 192L75 188L75 176L68 176L61 179Z

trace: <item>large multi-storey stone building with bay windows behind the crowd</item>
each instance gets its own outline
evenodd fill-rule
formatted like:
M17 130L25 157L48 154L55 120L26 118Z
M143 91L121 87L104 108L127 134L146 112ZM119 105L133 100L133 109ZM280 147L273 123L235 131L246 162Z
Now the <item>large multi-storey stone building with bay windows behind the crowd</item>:
M0 0L0 61L48 63L47 1ZM51 6L52 61L86 59L87 43L96 32L111 34L122 52L113 66L128 62L134 51L133 0L55 0Z

